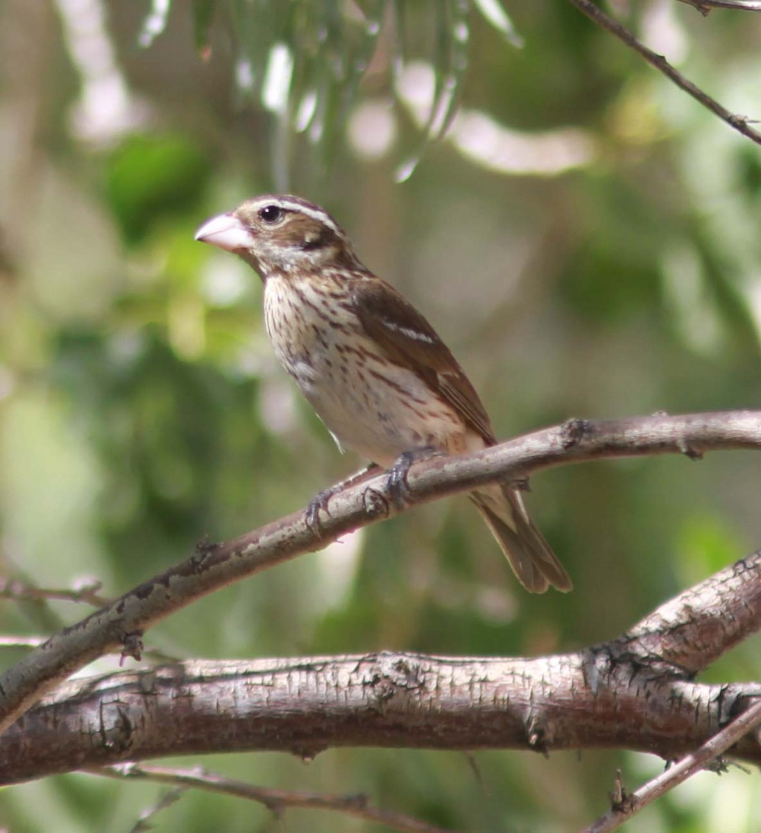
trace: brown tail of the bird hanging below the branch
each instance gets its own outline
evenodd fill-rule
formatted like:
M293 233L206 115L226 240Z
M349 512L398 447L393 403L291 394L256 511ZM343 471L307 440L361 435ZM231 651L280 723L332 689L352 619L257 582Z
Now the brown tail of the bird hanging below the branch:
M570 576L530 519L520 491L495 483L472 492L470 499L526 590L544 593L550 585L564 593L573 589Z

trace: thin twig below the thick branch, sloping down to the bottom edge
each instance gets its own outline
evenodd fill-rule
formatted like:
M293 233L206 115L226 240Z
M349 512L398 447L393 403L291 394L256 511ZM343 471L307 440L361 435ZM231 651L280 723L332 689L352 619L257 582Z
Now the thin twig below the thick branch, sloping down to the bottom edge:
M268 810L278 815L283 810L300 807L305 810L328 810L343 813L362 821L372 821L376 824L385 825L393 830L402 831L402 833L455 833L450 828L430 825L425 821L418 821L410 816L405 816L403 813L377 810L375 807L368 806L366 796L330 796L317 792L274 790L251 786L251 784L246 784L243 781L234 781L231 778L200 768L175 770L163 766L138 766L134 763L127 763L120 766L103 766L86 770L86 772L91 775L106 776L121 781L125 779L154 781L160 784L172 784L183 789L193 787L196 790L215 792L223 796L245 798L248 801L257 801L263 804Z

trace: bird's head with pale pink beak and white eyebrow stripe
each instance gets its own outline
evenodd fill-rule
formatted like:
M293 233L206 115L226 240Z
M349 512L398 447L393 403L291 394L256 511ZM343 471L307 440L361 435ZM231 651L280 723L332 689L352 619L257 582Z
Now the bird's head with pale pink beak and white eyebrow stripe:
M196 240L234 252L266 280L271 274L363 269L346 233L328 212L300 197L266 194L211 217Z

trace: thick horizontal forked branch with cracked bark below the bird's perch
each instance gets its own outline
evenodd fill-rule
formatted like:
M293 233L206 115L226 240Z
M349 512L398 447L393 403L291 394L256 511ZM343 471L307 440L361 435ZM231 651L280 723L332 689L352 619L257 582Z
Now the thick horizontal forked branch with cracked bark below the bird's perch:
M614 747L678 758L761 697L758 684L692 681L759 629L761 552L618 639L565 655L189 661L72 681L2 736L0 783L167 755L311 757L328 746ZM693 642L694 654L683 647ZM731 754L761 762L754 737Z

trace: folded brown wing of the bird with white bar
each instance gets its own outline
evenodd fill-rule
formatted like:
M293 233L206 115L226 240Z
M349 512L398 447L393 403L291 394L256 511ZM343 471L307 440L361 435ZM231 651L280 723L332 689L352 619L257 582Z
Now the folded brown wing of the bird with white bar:
M356 279L353 300L362 326L390 360L411 367L487 443L495 443L489 416L470 380L420 312L379 277Z

